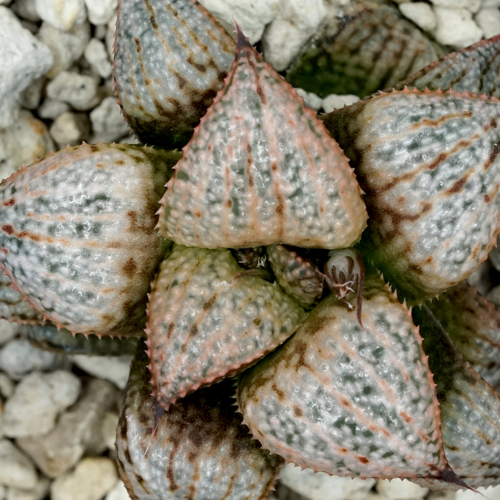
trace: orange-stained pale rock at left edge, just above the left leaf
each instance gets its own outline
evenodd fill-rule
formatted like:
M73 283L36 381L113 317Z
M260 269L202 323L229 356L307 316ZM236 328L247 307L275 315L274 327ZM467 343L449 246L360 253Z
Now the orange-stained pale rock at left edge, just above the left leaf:
M0 129L0 179L54 150L45 123L21 109L12 125Z

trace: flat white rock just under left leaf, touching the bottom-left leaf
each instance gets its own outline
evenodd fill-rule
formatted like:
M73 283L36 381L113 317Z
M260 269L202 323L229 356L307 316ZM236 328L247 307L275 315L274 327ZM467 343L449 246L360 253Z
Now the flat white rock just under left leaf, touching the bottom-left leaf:
M130 371L132 356L88 356L73 354L72 361L91 375L113 382L120 389L124 389Z

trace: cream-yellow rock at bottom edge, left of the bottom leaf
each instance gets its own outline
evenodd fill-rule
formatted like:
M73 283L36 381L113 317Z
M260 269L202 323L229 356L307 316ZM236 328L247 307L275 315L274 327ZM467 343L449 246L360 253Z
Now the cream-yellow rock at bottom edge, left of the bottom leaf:
M57 477L51 484L51 500L98 500L116 484L118 474L110 458L83 458L72 472Z

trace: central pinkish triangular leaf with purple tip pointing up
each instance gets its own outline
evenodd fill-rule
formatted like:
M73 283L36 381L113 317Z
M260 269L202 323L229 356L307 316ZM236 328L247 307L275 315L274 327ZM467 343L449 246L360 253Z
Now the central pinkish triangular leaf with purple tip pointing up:
M337 143L241 34L161 204L160 233L188 246L338 248L366 225Z

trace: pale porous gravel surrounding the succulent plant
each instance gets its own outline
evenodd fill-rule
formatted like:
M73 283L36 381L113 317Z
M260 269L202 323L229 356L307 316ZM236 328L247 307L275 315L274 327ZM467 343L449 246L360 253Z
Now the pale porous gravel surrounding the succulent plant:
M231 15L274 67L287 67L339 5L349 0L202 0ZM500 32L500 0L401 1L400 11L437 41L462 47ZM117 0L0 0L0 179L66 144L137 142L112 90ZM230 12L228 11L230 8ZM301 92L314 109L357 100ZM490 268L471 277L500 303ZM0 320L0 500L126 500L114 463L114 433L130 356L42 350ZM407 480L329 477L288 465L281 500L466 500L470 491L432 492ZM500 487L484 493L500 499Z

